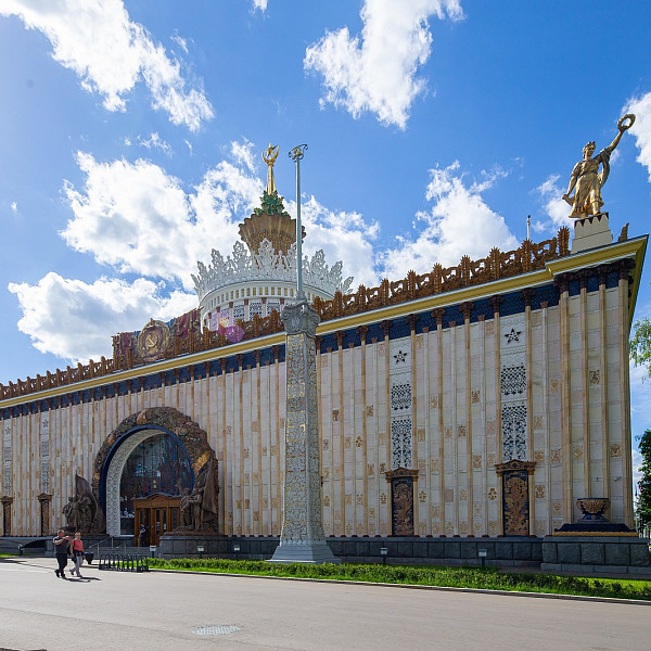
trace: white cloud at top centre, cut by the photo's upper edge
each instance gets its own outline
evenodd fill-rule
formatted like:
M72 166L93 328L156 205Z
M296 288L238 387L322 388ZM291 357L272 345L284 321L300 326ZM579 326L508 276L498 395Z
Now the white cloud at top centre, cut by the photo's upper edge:
M305 68L323 76L322 105L344 106L356 118L370 111L405 129L411 103L425 90L417 71L432 50L427 20L461 20L460 0L365 0L360 15L361 38L347 27L328 31L307 48Z

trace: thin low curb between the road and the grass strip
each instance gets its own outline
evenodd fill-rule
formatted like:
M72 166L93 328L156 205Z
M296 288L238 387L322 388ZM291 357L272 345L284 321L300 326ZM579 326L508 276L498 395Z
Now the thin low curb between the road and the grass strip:
M232 574L227 572L196 572L194 570L150 569L150 573L195 574L201 576L231 576L237 578L263 578L267 580L296 580L306 583L340 584L346 586L376 586L381 588L403 588L409 590L436 590L439 592L470 592L475 595L501 595L505 597L528 597L533 599L563 599L565 601L591 601L598 603L620 603L626 605L651 605L643 599L616 599L615 597L588 597L586 595L556 595L553 592L519 592L516 590L488 590L483 588L454 588L449 586L420 586L413 584L386 584L368 580L342 580L330 578L303 578L297 576L259 576L257 574Z

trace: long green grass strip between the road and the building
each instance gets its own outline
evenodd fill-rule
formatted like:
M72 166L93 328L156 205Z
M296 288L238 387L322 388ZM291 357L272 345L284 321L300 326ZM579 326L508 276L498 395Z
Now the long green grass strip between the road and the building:
M583 578L552 574L506 573L496 569L441 567L432 565L376 565L342 563L306 565L276 564L266 561L231 561L227 559L150 559L150 567L187 570L252 576L283 576L331 580L410 584L450 588L508 590L514 592L550 592L651 601L651 582Z

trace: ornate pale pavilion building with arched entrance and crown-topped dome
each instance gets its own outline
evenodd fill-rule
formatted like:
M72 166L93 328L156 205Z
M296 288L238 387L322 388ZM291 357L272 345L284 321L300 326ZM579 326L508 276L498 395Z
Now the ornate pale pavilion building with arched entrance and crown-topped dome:
M591 496L633 526L628 335L647 237L612 241L603 220L572 251L561 228L355 292L322 252L303 261L327 536L542 537ZM116 335L110 359L0 385L2 535L64 524L79 475L108 535L144 522L156 542L216 459L219 534L279 536L295 222L271 188L240 233L232 256L199 264L196 310Z

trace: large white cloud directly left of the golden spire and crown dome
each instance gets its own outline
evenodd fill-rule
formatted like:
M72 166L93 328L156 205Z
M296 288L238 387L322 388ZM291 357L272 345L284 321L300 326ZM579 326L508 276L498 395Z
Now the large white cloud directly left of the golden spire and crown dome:
M79 252L122 272L180 281L192 288L196 260L230 246L237 224L255 206L261 181L230 163L209 169L191 193L146 161L98 163L77 155L81 190L66 183L74 217L62 232Z

